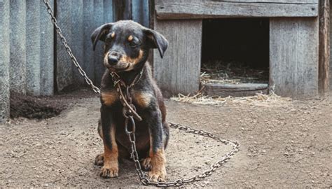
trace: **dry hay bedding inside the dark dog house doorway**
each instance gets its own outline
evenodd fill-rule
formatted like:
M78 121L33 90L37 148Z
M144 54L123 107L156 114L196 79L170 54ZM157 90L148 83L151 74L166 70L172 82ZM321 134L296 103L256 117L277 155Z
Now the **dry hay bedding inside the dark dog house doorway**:
M207 62L201 71L201 83L268 83L268 70L253 69L241 62Z

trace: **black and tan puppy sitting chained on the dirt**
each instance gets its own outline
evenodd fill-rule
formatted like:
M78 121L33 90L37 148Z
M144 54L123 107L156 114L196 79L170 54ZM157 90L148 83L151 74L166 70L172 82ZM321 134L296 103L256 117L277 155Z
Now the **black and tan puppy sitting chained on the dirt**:
M150 171L149 179L165 181L165 148L169 127L165 120L162 94L152 78L151 66L146 59L151 48L158 48L162 57L167 49L167 40L157 31L130 20L102 25L93 32L91 38L94 50L98 41L104 41L104 66L107 68L102 77L101 120L98 126L99 135L104 141L104 153L97 155L95 160L96 165L103 165L101 176L118 176L118 158L130 158L123 105L110 75L116 72L127 85L136 80L130 88L130 95L137 113L143 119L135 121L141 165Z

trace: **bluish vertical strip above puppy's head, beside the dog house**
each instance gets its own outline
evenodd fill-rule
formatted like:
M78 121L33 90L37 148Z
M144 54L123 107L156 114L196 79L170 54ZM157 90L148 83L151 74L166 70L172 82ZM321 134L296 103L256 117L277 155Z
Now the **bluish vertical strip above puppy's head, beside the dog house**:
M148 0L132 0L132 20L145 27L150 27L148 3Z

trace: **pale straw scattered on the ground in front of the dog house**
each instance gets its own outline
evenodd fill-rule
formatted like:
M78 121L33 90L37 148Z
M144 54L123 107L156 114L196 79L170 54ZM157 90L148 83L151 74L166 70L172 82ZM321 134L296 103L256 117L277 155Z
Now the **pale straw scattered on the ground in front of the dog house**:
M255 96L250 97L209 97L202 93L195 94L194 96L178 94L178 97L171 98L177 102L186 102L191 104L204 104L221 106L223 104L249 104L255 106L284 106L291 102L291 98L279 97L274 92L270 94L257 93Z

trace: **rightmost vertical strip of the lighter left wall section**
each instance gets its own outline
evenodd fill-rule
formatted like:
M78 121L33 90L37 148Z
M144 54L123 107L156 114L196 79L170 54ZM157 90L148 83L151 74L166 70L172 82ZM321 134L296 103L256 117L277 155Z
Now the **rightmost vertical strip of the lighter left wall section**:
M50 0L54 8L54 0ZM53 95L54 92L54 32L53 23L43 1L41 7L41 95Z

